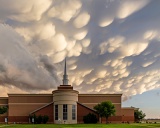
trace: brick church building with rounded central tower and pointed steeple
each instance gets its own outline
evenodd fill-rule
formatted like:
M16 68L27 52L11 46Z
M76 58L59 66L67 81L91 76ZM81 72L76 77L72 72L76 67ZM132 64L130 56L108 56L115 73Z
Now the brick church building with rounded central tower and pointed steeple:
M31 123L30 115L47 115L48 123L77 124L83 123L83 117L89 113L99 115L93 109L102 101L114 104L115 116L109 117L110 123L134 122L134 108L122 108L122 94L79 94L68 84L66 60L63 84L50 94L8 94L0 97L0 106L7 106L8 111L0 115L0 123ZM105 123L102 118L102 123Z

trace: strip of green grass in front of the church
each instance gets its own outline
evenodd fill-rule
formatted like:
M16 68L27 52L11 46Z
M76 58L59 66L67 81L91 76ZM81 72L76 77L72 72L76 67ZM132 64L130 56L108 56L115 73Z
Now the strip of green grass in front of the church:
M9 124L0 128L160 128L160 124Z

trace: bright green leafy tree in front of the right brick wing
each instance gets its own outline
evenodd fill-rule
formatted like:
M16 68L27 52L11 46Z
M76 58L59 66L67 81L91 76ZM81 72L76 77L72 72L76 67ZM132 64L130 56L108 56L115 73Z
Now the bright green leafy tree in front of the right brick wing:
M104 101L100 104L94 106L94 109L98 112L99 116L106 118L106 123L108 123L108 118L112 115L115 115L115 106L111 101Z

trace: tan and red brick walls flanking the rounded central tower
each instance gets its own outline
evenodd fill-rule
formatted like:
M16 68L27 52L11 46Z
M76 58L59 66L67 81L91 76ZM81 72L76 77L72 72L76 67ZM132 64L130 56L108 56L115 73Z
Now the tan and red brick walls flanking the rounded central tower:
M65 87L60 90L65 91ZM0 98L0 106L8 106L8 112L0 116L0 122L29 123L29 115L48 115L49 123L54 123L54 104L52 94L9 94L9 97ZM93 107L102 101L111 101L116 108L116 116L109 117L108 122L134 122L134 108L121 108L121 94L78 94L77 123L83 123L83 116L88 113L98 114ZM102 118L102 123L106 119Z

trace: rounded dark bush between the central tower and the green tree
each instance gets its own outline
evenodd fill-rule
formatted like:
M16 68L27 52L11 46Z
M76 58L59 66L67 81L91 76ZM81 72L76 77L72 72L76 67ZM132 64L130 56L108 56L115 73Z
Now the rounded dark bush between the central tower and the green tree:
M92 124L92 123L97 123L98 119L97 116L93 113L89 113L88 115L83 117L83 122L86 124Z

